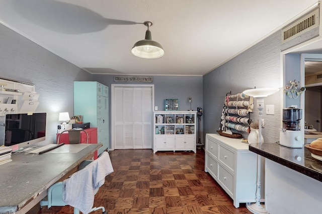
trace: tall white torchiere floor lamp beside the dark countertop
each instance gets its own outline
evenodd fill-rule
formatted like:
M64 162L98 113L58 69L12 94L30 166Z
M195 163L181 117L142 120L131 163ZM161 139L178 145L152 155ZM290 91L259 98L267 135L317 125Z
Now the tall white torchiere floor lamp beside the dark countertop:
M255 88L244 91L243 93L252 96L257 99L257 109L259 111L259 119L258 119L258 135L262 136L262 115L264 109L264 98L278 92L278 88ZM261 137L258 138L259 148L262 145ZM261 204L261 155L257 155L257 181L256 181L256 202L255 203L246 203L246 207L253 213L268 213L263 204Z

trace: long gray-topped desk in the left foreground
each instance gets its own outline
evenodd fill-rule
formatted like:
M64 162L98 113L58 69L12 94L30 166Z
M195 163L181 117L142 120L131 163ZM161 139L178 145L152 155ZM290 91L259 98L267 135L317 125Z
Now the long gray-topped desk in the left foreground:
M101 146L71 144L44 154L13 153L11 162L0 165L0 213L26 213Z

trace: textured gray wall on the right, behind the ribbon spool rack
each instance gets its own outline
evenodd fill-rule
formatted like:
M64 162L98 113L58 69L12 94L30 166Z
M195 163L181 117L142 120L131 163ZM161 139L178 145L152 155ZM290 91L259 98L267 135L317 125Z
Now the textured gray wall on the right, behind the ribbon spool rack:
M216 133L219 129L226 93L231 91L231 94L237 94L254 87L281 87L280 44L280 32L274 33L203 77L204 133ZM280 90L283 89L280 88ZM263 111L265 142L279 140L278 128L282 106L280 96L281 92L277 92L265 98L265 106L275 105L274 115L266 115L266 108ZM251 119L256 121L258 110L255 99L254 102L254 113L251 114ZM247 137L248 134L243 132L243 136Z

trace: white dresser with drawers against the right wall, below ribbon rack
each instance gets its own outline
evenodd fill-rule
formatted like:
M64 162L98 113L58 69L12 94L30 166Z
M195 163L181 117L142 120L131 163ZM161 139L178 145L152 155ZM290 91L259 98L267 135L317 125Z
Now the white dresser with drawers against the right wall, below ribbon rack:
M241 139L206 134L205 149L205 171L232 198L233 205L237 208L239 203L255 202L257 154L249 151L249 145Z

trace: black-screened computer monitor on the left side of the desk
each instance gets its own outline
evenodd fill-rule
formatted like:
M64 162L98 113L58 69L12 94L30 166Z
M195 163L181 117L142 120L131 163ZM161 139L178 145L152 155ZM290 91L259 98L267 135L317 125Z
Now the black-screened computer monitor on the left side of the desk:
M46 113L6 115L5 146L19 149L45 139Z

